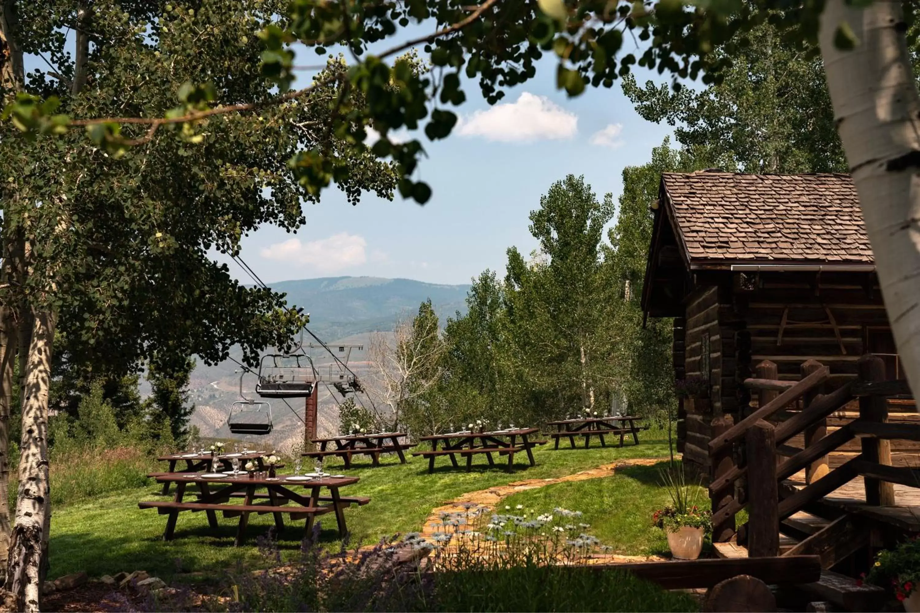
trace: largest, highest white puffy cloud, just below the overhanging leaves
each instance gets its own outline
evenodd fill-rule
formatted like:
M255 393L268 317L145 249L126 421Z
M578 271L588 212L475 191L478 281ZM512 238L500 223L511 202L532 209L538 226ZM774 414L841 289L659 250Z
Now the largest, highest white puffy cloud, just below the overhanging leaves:
M578 116L545 96L523 92L517 102L477 110L460 120L457 133L487 141L534 142L570 139L578 131Z

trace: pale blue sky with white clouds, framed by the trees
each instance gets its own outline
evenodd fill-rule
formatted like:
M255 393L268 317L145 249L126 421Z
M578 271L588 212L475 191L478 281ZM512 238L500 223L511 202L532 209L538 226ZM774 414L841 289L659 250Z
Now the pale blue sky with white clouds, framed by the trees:
M427 33L420 28L404 36ZM296 51L295 64L318 63L313 51ZM27 72L38 63L27 58ZM617 197L623 168L648 162L652 147L673 132L640 118L619 82L569 99L556 89L556 65L547 54L534 79L507 89L492 107L476 83L464 81L466 103L452 108L460 119L451 136L414 136L428 153L413 176L433 190L424 206L398 193L392 201L366 195L352 206L330 187L319 203L305 203L306 224L297 233L264 226L244 238L242 258L268 284L339 276L459 284L487 268L503 274L510 246L525 256L536 248L528 214L554 181L583 175L598 198ZM643 69L635 74L640 83L662 81ZM294 87L311 75L299 74ZM236 263L215 259L251 282Z

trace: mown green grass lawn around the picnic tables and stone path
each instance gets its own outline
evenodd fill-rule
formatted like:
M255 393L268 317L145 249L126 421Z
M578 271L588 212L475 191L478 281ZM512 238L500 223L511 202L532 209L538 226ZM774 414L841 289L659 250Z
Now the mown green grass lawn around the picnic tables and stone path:
M494 485L522 479L552 478L600 466L604 463L626 458L664 458L668 455L667 440L655 440L654 435L646 437L638 446L627 444L624 448L597 448L553 450L551 445L535 449L536 466L531 468L526 459L515 458L515 470L477 467L467 473L463 468L450 467L447 460L439 459L433 474L428 474L427 460L410 458L402 465L393 459L383 460L384 466L372 468L370 462L353 464L350 475L361 477L361 482L343 490L348 495L367 495L371 504L360 508L352 507L345 514L353 535L351 544L373 542L397 532L408 532L421 528L425 517L435 506L443 505L459 494L485 489ZM478 459L477 459L478 460ZM328 462L326 470L338 471L337 464ZM654 471L639 471L637 475L653 475ZM651 478L651 477L649 477ZM617 494L616 480L632 494ZM628 553L641 553L653 547L650 539L641 529L640 516L648 523L648 500L643 492L654 489L653 482L642 482L638 477L615 476L578 483L580 487L592 488L592 483L604 482L599 489L555 490L572 494L556 494L542 497L543 490L527 493L527 505L535 509L551 509L553 506L567 506L584 511L593 517L589 523L596 526L596 536L617 549ZM547 491L559 486L545 488ZM86 571L90 576L113 574L120 571L146 570L169 579L175 573L220 571L232 568L236 562L243 562L249 568L269 565L272 561L259 554L256 538L265 534L272 524L271 516L251 516L249 519L247 546L233 547L236 533L236 518L219 517L219 533L212 532L203 513L181 513L178 517L176 539L162 540L166 516L157 515L153 509L141 510L138 501L163 499L158 486L150 482L144 487L122 490L116 494L98 495L90 500L58 506L53 510L51 533L51 578L77 571ZM523 495L523 494L522 494ZM561 498L559 496L562 496ZM594 495L604 498L592 499ZM580 496L569 499L566 496ZM517 496L515 495L515 498ZM658 498L656 498L656 501ZM533 502L531 502L533 501ZM640 505L638 511L627 509L628 505ZM612 512L613 511L613 512ZM629 520L628 534L616 534L613 528L604 530L604 515L636 514ZM632 517L632 516L629 516ZM285 517L287 519L287 517ZM282 555L296 555L303 536L303 521L284 530L279 545ZM335 533L335 519L322 519L325 529L322 541L330 548L338 548Z

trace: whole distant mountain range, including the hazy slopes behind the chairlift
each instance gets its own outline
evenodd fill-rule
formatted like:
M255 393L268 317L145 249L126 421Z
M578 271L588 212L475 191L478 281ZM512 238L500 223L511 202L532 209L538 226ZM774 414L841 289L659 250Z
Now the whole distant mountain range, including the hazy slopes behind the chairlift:
M411 319L423 301L431 305L443 322L456 312L466 312L466 292L469 285L423 283L408 278L326 277L280 281L271 289L287 295L289 306L302 307L310 313L310 330L329 344L357 344L350 366L364 380L371 375L367 361L367 346L371 336L392 332L397 322ZM305 337L304 342L312 341ZM240 352L231 352L239 359ZM316 367L331 364L332 358L322 351L314 352ZM226 427L227 414L239 400L240 374L235 362L206 366L199 361L190 379L190 402L195 403L191 424L198 426L202 437L231 437ZM243 392L256 398L253 391L256 377L246 374ZM319 389L318 425L320 432L333 433L339 426L337 394L325 387ZM367 403L366 398L364 403ZM303 440L304 399L283 403L272 401L274 429L267 437L245 437L272 448L291 447Z

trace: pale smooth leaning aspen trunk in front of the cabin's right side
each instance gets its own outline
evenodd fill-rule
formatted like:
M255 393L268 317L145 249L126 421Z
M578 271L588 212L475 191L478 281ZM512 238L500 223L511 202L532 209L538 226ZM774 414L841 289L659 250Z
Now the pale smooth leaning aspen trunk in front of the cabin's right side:
M847 23L852 51L834 46ZM891 332L911 388L920 390L920 96L900 2L866 8L828 0L821 51L837 131L875 254Z

